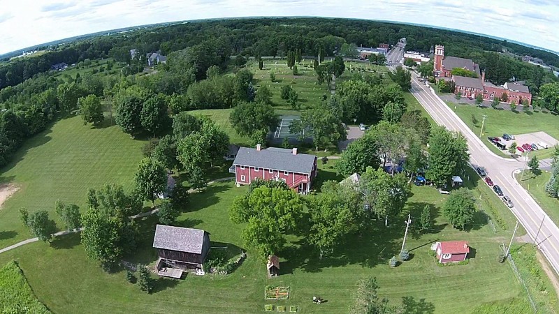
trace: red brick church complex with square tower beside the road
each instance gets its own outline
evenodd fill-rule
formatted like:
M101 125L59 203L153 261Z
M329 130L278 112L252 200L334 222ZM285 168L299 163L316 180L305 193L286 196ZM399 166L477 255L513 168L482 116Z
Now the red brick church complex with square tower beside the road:
M465 77L452 75L454 68L462 68L474 73L477 77ZM475 98L481 94L484 100L493 100L500 98L502 103L521 104L524 100L528 100L528 105L532 103L532 94L523 82L507 82L502 86L491 84L485 80L485 70L481 71L479 65L471 59L458 57L444 57L444 46L435 46L435 57L433 62L433 75L437 80L450 80L456 85L454 94L461 93L462 96ZM507 94L507 100L502 100L502 95Z

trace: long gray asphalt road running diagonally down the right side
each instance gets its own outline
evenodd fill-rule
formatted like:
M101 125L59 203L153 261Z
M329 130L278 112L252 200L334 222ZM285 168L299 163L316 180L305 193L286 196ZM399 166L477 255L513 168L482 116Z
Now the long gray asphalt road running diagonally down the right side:
M523 169L525 161L502 158L493 154L430 87L418 80L415 73L412 73L412 89L410 91L431 117L437 121L437 124L445 126L449 130L456 130L466 137L470 147L470 163L474 167L484 167L493 182L501 187L504 195L511 198L514 204L514 207L511 208L512 213L523 225L532 241L537 237L538 248L549 260L556 273L559 274L559 228L547 216L542 207L539 207L530 194L514 179L514 172ZM542 227L538 233L540 225Z

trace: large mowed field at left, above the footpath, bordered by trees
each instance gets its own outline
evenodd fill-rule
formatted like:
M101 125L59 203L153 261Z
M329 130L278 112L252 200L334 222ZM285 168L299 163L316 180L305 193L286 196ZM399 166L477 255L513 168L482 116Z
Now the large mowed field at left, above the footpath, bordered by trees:
M24 142L12 162L1 169L0 182L19 186L0 209L0 247L28 239L18 210L46 209L55 214L55 202L78 204L85 209L88 188L122 184L131 188L133 173L142 156L142 140L131 140L118 128L84 126L81 117L61 119Z

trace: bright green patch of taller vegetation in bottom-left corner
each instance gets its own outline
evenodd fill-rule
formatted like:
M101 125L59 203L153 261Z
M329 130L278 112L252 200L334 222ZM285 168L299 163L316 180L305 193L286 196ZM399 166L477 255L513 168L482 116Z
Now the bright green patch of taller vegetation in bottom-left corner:
M35 298L22 270L15 262L8 262L0 268L0 312L50 313Z

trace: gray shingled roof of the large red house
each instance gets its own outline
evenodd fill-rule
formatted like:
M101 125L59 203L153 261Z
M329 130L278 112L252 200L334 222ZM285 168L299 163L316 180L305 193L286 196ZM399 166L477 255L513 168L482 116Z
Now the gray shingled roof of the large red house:
M240 147L233 165L310 174L315 158L317 156L308 154L293 155L291 149L270 147L256 151L256 149Z

